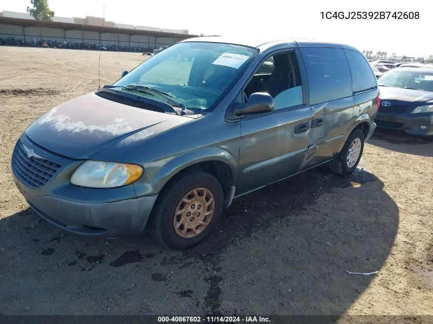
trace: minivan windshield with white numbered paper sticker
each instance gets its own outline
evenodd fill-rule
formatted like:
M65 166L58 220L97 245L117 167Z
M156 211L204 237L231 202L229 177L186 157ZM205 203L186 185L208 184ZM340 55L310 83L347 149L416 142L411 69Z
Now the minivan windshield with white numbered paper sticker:
M141 63L113 84L116 90L168 104L167 96L187 109L210 111L214 103L240 78L258 51L212 42L180 42ZM131 85L166 94L134 91Z

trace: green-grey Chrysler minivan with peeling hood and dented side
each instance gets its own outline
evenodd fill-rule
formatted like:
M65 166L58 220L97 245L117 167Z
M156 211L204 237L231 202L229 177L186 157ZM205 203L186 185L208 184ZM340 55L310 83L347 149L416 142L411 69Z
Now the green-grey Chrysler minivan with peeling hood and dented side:
M187 72L171 59L182 51L195 52ZM39 117L14 148L16 186L60 228L147 226L186 249L235 197L323 163L350 174L376 127L377 80L349 46L198 37L123 75Z

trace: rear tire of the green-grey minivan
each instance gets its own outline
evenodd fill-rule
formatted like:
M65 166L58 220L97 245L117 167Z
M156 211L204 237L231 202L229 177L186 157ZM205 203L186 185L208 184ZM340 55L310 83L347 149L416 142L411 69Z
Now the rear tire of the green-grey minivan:
M352 143L357 142L357 140L360 141L359 156L355 164L353 163L354 163L354 159L356 158L356 154L353 156L353 159L350 159L350 163L349 163L348 159L349 159L350 146L352 145ZM359 142L356 144L359 145ZM355 146L356 144L354 143ZM354 150L357 150L355 147L353 148ZM358 166L358 163L361 160L363 150L364 150L364 134L362 133L361 129L355 129L352 133L350 133L338 157L336 157L334 160L329 162L329 168L333 172L339 175L346 176L351 174Z

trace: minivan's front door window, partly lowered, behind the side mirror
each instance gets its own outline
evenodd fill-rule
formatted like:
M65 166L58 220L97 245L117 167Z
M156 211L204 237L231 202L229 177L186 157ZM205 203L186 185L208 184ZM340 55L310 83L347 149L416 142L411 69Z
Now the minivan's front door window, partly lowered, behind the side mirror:
M275 110L302 104L302 85L294 52L267 57L245 88L250 96L266 92L274 98Z

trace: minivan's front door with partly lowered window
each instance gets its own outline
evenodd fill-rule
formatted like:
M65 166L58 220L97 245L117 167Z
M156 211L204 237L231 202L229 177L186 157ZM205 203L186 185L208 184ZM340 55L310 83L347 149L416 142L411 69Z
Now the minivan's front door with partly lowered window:
M270 69L270 63L272 67ZM239 181L236 195L296 174L302 166L310 140L310 106L303 90L294 51L280 52L265 62L269 75L246 85L246 97L267 92L274 97L273 112L241 119ZM262 73L264 69L259 68ZM256 73L257 74L257 73ZM254 89L252 89L254 88ZM250 92L250 93L249 93Z

